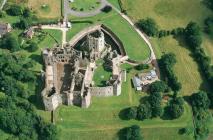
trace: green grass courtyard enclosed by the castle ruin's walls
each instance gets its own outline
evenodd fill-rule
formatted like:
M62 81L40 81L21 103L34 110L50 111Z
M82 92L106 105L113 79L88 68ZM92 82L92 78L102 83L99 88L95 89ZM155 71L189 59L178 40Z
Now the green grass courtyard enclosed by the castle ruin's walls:
M96 64L98 67L95 69L95 73L93 76L95 86L105 86L106 82L112 76L112 71L107 71L104 69L104 60L99 60L96 62Z

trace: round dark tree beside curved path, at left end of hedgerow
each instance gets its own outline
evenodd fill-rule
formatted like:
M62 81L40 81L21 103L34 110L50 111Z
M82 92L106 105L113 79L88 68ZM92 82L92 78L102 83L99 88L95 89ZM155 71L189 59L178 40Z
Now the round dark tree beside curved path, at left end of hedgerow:
M156 36L158 34L158 26L151 18L139 20L138 26L148 36Z

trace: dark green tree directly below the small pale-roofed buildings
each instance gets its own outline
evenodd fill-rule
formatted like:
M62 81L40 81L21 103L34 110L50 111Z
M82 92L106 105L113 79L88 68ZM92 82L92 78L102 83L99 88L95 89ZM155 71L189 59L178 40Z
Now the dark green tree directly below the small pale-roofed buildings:
M163 81L155 81L150 85L150 93L154 92L165 92L168 86Z

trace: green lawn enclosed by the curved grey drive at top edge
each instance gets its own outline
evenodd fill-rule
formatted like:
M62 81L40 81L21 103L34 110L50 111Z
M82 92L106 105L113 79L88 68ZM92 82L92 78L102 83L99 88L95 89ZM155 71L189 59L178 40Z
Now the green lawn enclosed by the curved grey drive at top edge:
M74 0L70 3L70 8L76 11L92 11L101 5L100 0Z

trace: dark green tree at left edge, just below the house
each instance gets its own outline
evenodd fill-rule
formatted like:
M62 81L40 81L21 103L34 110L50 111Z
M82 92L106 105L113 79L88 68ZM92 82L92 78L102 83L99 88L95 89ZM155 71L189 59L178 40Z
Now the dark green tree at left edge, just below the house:
M6 34L2 38L2 40L0 42L0 47L3 49L8 49L12 52L20 50L20 45L19 45L17 39L11 33Z

